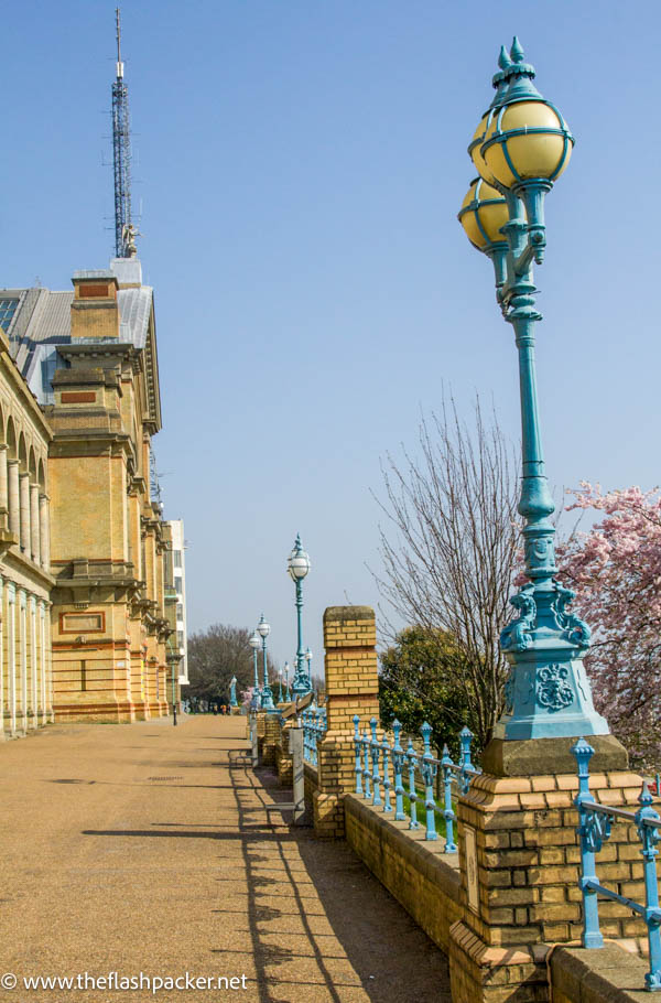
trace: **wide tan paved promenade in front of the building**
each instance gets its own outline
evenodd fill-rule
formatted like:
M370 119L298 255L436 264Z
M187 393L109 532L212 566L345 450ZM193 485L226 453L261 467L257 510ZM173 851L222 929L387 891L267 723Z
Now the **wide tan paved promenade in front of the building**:
M449 1003L443 955L348 846L264 811L286 799L250 768L245 719L0 744L1 1003ZM214 981L91 988L109 972ZM39 975L80 988L23 988Z

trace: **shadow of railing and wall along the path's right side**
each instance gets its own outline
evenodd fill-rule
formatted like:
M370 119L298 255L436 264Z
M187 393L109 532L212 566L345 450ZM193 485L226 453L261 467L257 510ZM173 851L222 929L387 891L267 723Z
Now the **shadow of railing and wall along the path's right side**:
M261 1003L281 1003L283 991L288 1001L312 1000L313 986L333 1003L451 1003L446 958L347 843L285 828L289 812L268 812L271 821L256 826L266 805L291 792L240 753L229 759ZM272 945L279 936L285 946Z

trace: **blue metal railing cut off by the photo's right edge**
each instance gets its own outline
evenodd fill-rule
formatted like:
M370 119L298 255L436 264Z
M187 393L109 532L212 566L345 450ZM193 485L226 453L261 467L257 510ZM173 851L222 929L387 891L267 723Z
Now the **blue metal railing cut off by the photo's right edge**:
M652 796L647 781L642 781L642 789L638 798L638 811L625 811L622 808L611 808L595 801L589 792L589 761L594 748L579 738L572 746L572 752L578 764L578 795L574 801L578 809L578 828L581 837L581 878L578 887L583 893L583 946L599 948L604 946L604 937L599 930L598 895L619 902L628 909L638 913L648 928L650 949L650 970L644 977L646 989L651 992L661 990L661 909L659 908L659 885L657 882L657 843L661 840L659 827L661 818L651 807ZM633 902L624 895L618 895L610 888L599 884L597 880L595 855L610 837L610 828L616 819L622 819L633 824L641 842L640 853L643 859L644 877L644 905Z

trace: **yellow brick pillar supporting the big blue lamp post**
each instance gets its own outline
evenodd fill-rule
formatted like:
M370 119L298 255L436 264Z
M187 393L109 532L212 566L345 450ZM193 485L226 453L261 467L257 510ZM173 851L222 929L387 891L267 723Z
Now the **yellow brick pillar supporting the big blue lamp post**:
M610 735L590 736L590 790L597 800L637 808L640 777ZM494 742L459 798L457 832L464 916L451 928L453 1003L550 999L546 956L579 940L581 853L574 738ZM642 863L626 824L597 855L597 873L620 894L642 894ZM644 925L616 903L600 904L602 932L632 945Z

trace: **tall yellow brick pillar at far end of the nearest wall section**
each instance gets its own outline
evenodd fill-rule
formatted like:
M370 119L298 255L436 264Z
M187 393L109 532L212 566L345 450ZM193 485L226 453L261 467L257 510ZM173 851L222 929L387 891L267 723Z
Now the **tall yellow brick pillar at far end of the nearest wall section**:
M313 795L317 835L345 834L344 796L355 790L354 722L379 716L377 628L370 606L329 606L324 613L326 721L317 744L318 788Z

